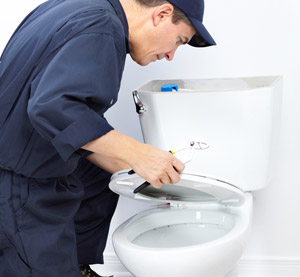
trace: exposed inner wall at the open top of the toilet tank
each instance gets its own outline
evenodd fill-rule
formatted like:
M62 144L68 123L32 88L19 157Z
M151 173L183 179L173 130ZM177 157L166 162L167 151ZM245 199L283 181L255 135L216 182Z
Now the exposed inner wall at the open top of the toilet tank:
M179 92L238 91L270 87L281 79L280 76L222 78L222 79L170 79L152 80L141 86L138 91L147 93L161 92L165 84L178 85ZM166 92L164 92L166 93Z

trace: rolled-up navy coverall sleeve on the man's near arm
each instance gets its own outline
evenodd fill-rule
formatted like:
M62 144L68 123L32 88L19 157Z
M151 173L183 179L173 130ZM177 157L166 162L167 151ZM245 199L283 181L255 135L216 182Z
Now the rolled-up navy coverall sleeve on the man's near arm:
M117 100L117 55L110 34L81 34L58 50L32 82L30 122L63 160L113 129L103 114Z

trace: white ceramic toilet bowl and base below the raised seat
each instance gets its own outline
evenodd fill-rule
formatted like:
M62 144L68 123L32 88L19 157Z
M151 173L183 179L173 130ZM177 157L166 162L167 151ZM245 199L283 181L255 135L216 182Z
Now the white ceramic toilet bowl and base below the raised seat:
M121 263L135 277L224 277L243 253L251 221L251 194L236 209L157 208L121 224L113 234L113 245ZM192 224L198 225L190 228ZM182 227L186 230L184 225L190 229L185 240L186 232L176 233ZM213 225L223 233L209 234ZM199 230L196 238L195 228L207 232ZM205 236L206 242L201 242ZM190 237L194 238L189 241Z

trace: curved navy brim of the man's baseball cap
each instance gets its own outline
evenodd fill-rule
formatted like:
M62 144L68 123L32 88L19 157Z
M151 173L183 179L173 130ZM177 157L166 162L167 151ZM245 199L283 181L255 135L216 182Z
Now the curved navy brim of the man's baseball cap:
M192 22L197 32L189 41L188 43L189 45L194 47L207 47L207 46L216 45L216 42L209 34L209 32L206 30L206 28L204 27L201 21L194 19L192 17L189 17L189 19Z

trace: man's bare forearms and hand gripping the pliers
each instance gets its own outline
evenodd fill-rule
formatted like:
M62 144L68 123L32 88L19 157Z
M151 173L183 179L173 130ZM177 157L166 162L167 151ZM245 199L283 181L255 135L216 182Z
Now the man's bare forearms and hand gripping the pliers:
M156 188L175 184L184 164L167 151L140 143L115 130L82 147L94 152L89 160L111 173L132 168Z

